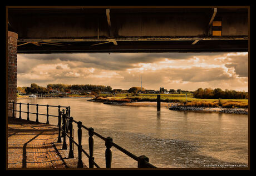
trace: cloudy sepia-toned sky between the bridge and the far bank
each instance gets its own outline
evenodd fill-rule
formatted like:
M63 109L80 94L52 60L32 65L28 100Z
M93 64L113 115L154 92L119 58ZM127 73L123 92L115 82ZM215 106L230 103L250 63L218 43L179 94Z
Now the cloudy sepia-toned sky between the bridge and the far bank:
M97 84L248 91L248 53L18 54L17 86Z

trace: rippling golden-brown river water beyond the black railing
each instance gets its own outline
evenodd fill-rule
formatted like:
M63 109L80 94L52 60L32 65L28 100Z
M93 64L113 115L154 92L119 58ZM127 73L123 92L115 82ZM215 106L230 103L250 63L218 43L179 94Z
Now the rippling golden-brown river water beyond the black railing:
M103 137L137 157L145 155L157 168L247 168L248 115L216 112L178 112L162 107L130 107L88 102L90 98L23 98L17 102L71 107L71 116L86 127L94 128ZM19 107L17 106L17 110ZM27 106L22 105L27 111ZM36 112L36 106L29 107ZM46 114L46 107L39 107ZM50 107L57 115L58 108ZM18 113L17 113L18 115ZM27 114L22 113L26 119ZM30 114L30 120L36 120ZM39 115L45 123L46 116ZM57 125L57 118L50 117ZM75 140L77 141L77 126ZM88 153L88 132L82 131L83 149ZM94 136L95 162L105 168L105 142ZM137 168L137 162L112 147L112 168ZM77 148L75 145L75 152ZM83 154L83 162L88 159Z

